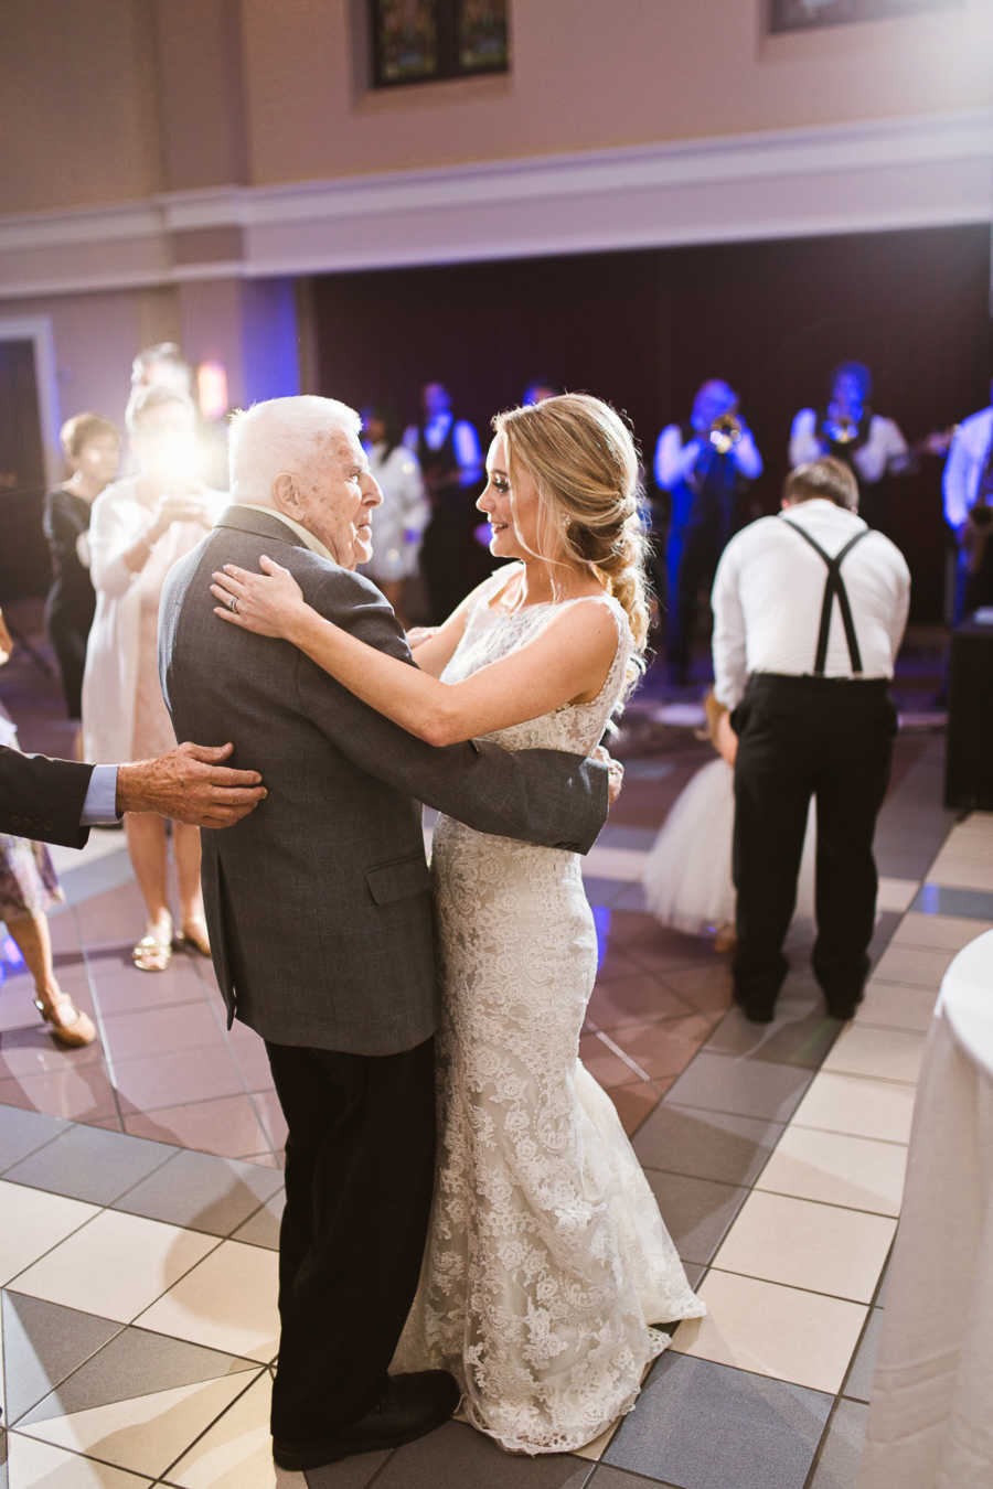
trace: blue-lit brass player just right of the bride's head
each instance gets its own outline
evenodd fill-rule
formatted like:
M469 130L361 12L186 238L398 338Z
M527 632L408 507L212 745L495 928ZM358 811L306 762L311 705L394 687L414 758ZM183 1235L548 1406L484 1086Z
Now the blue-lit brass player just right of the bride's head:
M655 447L655 482L671 499L665 543L668 680L689 675L700 591L710 593L718 560L741 526L741 494L762 474L762 457L721 378L698 390L685 424L668 424Z

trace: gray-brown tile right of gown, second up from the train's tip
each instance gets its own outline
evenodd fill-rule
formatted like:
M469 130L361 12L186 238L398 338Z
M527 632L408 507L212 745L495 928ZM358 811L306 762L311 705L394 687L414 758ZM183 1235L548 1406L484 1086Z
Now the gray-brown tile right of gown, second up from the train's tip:
M648 1169L721 1184L755 1184L780 1139L780 1123L661 1102L639 1127L634 1151Z

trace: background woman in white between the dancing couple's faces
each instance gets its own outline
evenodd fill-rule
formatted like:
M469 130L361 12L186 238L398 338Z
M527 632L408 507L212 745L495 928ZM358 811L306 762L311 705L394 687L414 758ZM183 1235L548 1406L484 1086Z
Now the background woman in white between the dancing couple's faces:
M362 572L383 590L400 624L406 624L403 591L417 573L430 503L417 456L402 442L393 415L378 406L366 408L362 423L369 471L383 491L383 505L372 512L372 558Z

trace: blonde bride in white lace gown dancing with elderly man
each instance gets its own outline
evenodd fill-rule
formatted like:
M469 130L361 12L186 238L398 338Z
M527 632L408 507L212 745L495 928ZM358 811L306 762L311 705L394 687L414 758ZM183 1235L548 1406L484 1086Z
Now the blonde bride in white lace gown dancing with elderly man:
M415 667L322 619L286 569L214 573L216 613L283 636L433 744L485 734L588 753L642 667L637 456L587 395L494 420L490 551L511 560L414 651ZM228 608L237 597L237 612ZM393 1361L444 1368L503 1447L566 1452L636 1401L700 1318L609 1096L578 1057L597 969L573 853L441 817L439 1166L421 1281Z

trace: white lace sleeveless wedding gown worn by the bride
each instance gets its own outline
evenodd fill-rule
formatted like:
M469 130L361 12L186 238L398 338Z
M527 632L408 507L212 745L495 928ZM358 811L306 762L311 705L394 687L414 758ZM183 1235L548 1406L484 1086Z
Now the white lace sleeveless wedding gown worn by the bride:
M459 680L527 642L549 606L485 600L444 672ZM585 755L630 649L593 703L490 736ZM421 1282L395 1368L445 1368L469 1421L503 1447L566 1452L634 1406L670 1343L652 1328L706 1309L689 1289L610 1097L579 1063L597 969L579 856L441 817L433 846L444 1014L439 1154Z

